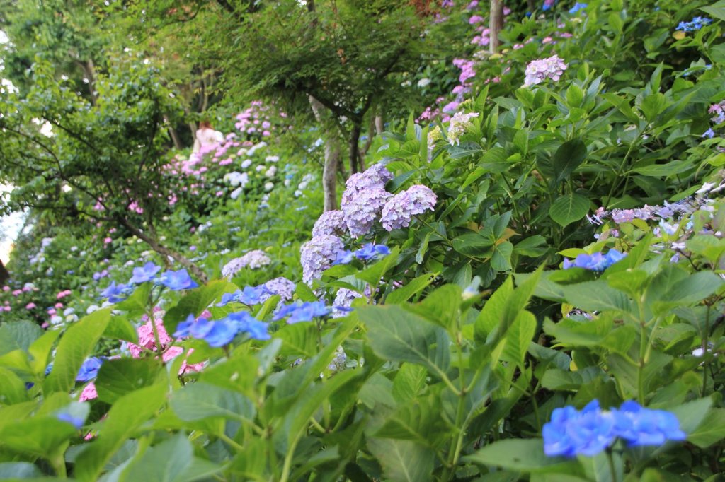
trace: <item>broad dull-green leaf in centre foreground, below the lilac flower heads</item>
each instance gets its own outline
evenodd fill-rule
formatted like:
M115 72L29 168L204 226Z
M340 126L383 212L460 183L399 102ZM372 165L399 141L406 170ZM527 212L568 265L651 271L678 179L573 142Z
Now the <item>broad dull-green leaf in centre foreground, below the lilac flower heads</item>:
M366 306L357 312L379 357L417 363L434 373L447 371L450 338L444 329L395 305Z

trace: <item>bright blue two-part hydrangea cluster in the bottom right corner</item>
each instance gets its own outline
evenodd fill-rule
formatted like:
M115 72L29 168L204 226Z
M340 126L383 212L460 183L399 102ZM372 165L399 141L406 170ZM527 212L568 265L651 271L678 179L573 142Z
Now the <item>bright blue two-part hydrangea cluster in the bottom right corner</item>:
M592 457L610 447L615 439L629 446L661 445L668 440L682 441L687 435L671 412L650 410L637 402L624 402L618 409L601 410L592 400L583 410L557 408L544 424L544 453L549 457Z

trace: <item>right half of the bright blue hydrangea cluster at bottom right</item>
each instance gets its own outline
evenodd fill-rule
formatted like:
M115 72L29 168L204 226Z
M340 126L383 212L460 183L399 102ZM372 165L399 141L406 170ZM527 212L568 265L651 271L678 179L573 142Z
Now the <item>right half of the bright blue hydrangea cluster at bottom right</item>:
M643 408L634 401L624 402L612 413L617 435L631 447L662 445L668 440L687 438L687 434L680 430L679 420L674 413Z

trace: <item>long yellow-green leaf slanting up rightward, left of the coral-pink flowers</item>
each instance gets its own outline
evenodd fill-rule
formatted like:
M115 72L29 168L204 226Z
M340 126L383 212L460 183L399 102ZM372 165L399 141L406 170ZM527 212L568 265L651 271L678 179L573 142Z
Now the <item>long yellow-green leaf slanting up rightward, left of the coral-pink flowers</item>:
M56 350L53 370L43 385L46 393L70 392L80 365L93 353L111 320L111 308L94 311L63 334Z

